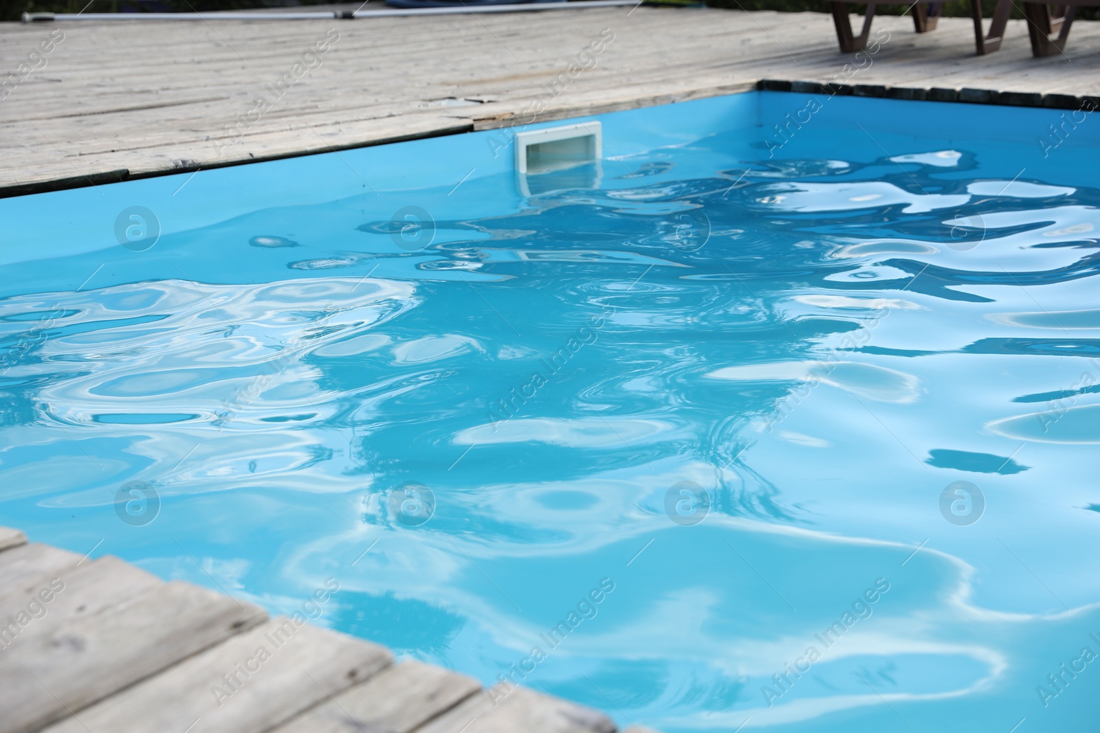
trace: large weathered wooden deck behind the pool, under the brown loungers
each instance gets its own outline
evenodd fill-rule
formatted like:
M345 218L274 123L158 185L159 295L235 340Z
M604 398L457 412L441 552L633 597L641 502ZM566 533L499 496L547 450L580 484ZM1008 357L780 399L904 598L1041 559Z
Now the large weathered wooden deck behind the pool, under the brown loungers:
M1023 23L1010 23L1001 51L978 57L969 19L943 19L916 35L909 18L880 16L875 29L889 40L858 69L836 51L832 19L816 13L642 5L4 23L3 69L16 69L51 33L64 38L44 66L35 62L0 90L0 196L488 129L529 119L534 100L544 102L544 121L744 91L762 79L1057 107L1100 96L1100 23L1075 23L1067 52L1049 58L1031 56ZM302 54L333 34L327 52L309 57L315 68L295 79ZM610 40L594 60L581 57L602 34ZM574 63L588 68L562 82ZM293 82L273 93L284 75ZM271 109L257 111L261 96Z

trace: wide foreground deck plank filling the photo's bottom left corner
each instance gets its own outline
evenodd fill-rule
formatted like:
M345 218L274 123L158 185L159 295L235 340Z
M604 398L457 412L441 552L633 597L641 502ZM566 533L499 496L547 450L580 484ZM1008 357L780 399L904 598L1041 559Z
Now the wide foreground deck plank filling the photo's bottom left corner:
M254 606L173 581L61 628L30 626L0 654L0 733L29 733L79 713L264 617Z

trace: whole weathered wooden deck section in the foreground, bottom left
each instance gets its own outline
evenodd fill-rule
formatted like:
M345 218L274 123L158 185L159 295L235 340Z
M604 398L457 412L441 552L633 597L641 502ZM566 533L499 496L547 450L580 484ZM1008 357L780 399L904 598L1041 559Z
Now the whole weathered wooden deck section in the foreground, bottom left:
M0 624L0 733L615 731L594 710L395 664L377 644L6 527Z

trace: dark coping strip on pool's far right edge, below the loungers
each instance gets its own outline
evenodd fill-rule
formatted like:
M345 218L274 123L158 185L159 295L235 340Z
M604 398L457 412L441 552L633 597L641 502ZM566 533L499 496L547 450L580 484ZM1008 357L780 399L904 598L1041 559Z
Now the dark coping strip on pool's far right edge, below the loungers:
M1100 109L1100 96L1044 95L1037 91L997 91L994 89L948 89L945 87L888 87L881 84L836 84L820 81L789 81L761 79L757 89L766 91L798 91L810 95L845 97L879 97L912 99L930 102L963 102L966 104L1001 104L1005 107L1037 107L1055 110Z

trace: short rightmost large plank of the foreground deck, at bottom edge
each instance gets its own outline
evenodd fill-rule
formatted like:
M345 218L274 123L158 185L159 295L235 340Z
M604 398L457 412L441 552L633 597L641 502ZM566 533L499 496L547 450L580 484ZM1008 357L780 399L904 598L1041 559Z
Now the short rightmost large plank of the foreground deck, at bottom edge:
M474 695L417 733L614 733L615 723L601 712L534 692L524 687L495 687Z

